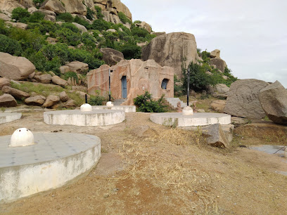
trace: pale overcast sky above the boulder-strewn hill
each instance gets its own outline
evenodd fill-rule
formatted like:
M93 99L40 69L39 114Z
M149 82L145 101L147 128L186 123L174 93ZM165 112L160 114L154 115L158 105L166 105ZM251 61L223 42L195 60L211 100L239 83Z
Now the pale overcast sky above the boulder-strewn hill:
M121 0L154 32L194 34L198 48L218 48L239 79L278 80L287 88L286 0Z

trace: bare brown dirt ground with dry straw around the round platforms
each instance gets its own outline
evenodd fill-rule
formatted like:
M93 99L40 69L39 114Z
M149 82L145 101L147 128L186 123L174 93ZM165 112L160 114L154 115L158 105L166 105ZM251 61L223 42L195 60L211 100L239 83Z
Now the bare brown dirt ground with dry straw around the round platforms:
M144 124L151 127L150 136L140 137L132 132ZM63 188L0 203L0 214L286 214L287 211L287 176L274 173L287 171L286 159L238 148L238 144L277 143L272 138L261 138L262 135L251 138L244 133L248 129L238 130L231 148L217 149L205 145L200 131L153 124L146 113L127 113L125 122L113 126L79 127L47 125L43 112L28 112L18 121L0 124L0 136L11 135L19 127L27 127L34 133L96 135L101 138L102 157L89 175Z

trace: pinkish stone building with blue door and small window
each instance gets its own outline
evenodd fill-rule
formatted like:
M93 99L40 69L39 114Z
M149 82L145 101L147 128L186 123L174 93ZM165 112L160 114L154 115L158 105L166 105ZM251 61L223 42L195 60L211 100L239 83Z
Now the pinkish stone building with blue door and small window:
M109 67L101 65L87 74L88 93L108 96L109 72L110 91L114 99L127 99L122 105L132 105L134 98L146 91L153 98L174 97L174 70L172 67L161 67L155 60L139 59L121 60L117 65Z

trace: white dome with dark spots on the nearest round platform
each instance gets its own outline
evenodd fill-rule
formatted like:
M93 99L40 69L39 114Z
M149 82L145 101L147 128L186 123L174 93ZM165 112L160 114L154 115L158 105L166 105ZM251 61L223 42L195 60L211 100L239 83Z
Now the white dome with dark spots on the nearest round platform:
M26 128L17 129L11 136L10 147L34 145L34 135Z

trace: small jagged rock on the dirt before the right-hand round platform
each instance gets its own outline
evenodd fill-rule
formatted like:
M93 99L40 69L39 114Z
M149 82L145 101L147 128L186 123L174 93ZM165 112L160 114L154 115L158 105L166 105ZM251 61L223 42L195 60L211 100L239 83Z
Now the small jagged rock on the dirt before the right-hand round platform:
M219 148L229 147L229 141L222 130L221 124L212 124L210 126L203 127L203 134L208 136L206 141L209 145Z

